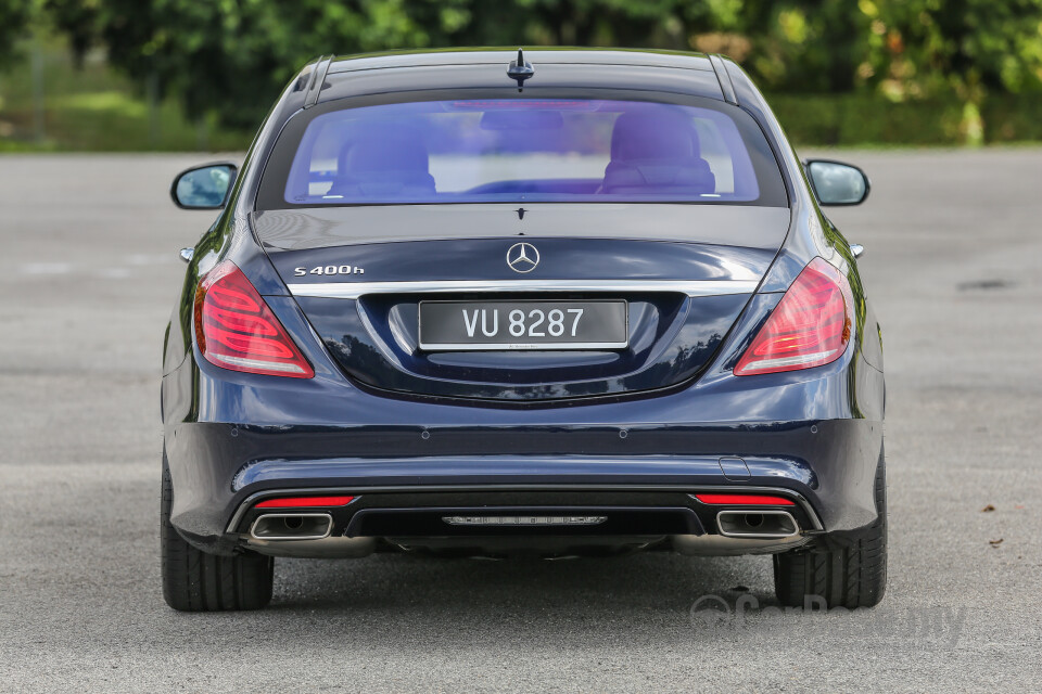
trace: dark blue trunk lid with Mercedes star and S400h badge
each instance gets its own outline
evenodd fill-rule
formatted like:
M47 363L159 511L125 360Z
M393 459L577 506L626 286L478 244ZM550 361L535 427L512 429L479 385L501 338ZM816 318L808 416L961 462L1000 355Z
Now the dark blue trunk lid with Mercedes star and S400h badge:
M359 385L414 396L546 401L694 378L773 261L789 210L359 206L255 213L252 223L316 332ZM537 256L534 265L531 257L514 264L523 272L508 262L521 243L528 256ZM466 301L459 305L466 323L475 319L472 311L492 306L481 301L533 299L562 307L624 300L626 345L420 348L421 301Z

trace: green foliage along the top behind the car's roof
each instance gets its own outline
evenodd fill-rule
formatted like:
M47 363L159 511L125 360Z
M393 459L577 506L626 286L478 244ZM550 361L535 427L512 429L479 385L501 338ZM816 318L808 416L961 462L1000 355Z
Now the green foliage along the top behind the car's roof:
M728 54L818 105L775 97L804 141L1024 139L1042 119L1009 97L1042 93L1042 0L0 0L0 67L34 23L233 129L320 53L519 44Z

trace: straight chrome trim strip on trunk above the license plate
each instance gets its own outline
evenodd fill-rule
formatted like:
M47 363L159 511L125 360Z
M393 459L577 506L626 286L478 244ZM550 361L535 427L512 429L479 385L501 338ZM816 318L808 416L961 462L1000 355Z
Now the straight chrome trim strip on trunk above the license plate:
M688 296L751 294L759 280L443 280L423 282L318 282L287 284L293 296L357 299L367 294L452 292L676 292Z

